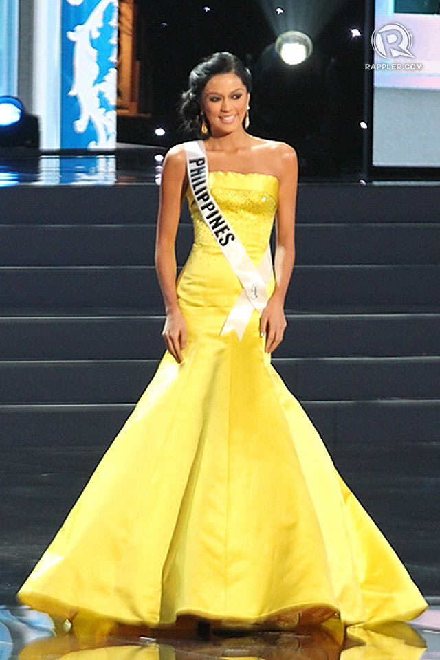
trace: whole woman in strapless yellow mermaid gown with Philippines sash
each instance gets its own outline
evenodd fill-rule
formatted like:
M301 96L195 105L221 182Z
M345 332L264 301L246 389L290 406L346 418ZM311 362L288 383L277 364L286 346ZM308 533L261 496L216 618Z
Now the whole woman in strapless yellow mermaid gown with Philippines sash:
M164 159L167 350L19 591L74 625L374 626L427 607L271 364L286 327L298 159L248 133L250 91L243 63L215 53L182 96L204 139ZM176 285L184 195L195 240Z

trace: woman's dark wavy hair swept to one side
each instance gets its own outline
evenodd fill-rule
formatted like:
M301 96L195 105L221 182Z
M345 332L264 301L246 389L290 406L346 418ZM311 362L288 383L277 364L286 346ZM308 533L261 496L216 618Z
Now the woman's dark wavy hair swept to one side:
M188 89L181 92L178 104L181 129L185 135L192 139L208 137L203 136L201 129L201 93L208 80L217 74L234 72L248 91L252 91L252 76L240 58L227 51L212 53L204 57L188 78Z

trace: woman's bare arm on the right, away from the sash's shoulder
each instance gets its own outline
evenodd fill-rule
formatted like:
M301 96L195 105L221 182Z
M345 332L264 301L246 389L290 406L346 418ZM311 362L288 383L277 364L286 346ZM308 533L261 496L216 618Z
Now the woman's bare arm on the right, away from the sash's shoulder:
M280 186L276 212L275 287L260 317L260 333L266 333L265 351L271 353L283 340L287 321L284 303L295 262L295 215L298 190L298 157L289 144L276 148Z

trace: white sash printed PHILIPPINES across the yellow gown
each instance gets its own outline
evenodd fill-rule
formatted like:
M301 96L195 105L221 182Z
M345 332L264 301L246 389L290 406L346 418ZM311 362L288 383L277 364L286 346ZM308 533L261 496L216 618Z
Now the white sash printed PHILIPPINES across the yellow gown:
M206 157L203 140L184 142L184 148L188 179L201 217L210 228L214 239L243 285L243 291L230 310L220 334L223 335L230 330L235 330L237 336L241 339L254 308L261 314L267 305L267 300L269 300L267 285L273 274L270 243L267 243L263 259L261 259L258 267L255 267L243 243L234 233L230 223L223 217L217 203L210 194L208 158Z

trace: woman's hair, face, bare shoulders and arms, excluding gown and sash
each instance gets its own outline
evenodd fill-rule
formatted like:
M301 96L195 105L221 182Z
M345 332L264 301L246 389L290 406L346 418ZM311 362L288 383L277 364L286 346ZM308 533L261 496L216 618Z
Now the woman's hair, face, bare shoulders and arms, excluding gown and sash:
M237 63L235 66L241 76L233 70L212 74L210 78L206 73L211 68L215 71L224 67L228 61L231 66L235 63L232 58L229 60L228 56L218 54L194 69L190 76L194 89L183 95L181 113L189 129L196 122L206 126L209 137L205 144L211 172L263 173L279 181L274 259L276 283L260 319L260 331L266 333L265 351L272 352L283 339L287 325L284 300L294 266L298 159L292 146L262 140L245 131L243 120L249 116L251 85L248 69ZM199 89L201 85L203 89ZM200 104L203 105L203 116L199 112ZM168 351L178 362L181 362L181 351L186 342L186 321L177 302L174 245L181 201L187 188L185 151L183 145L178 144L164 159L156 250L157 272L167 313L163 334Z

